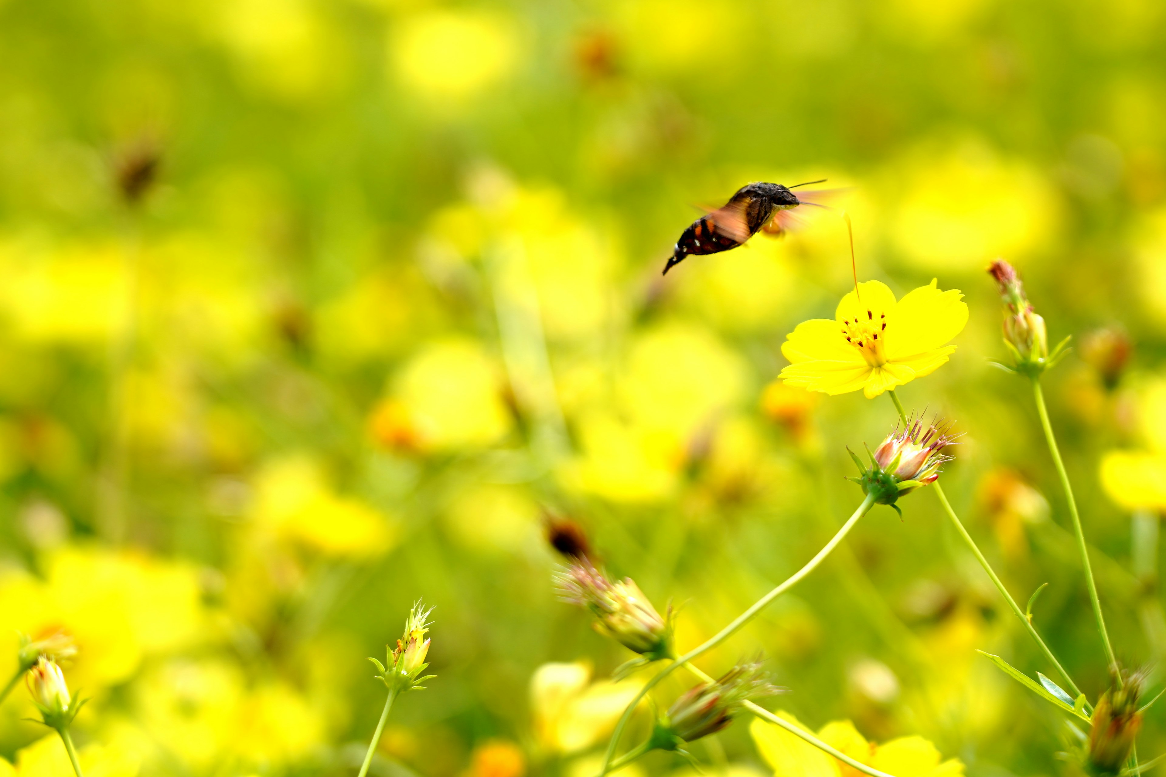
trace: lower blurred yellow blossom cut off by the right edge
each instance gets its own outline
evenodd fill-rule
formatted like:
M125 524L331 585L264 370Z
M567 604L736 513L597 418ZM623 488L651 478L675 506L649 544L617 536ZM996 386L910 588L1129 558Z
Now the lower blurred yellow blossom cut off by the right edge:
M1166 510L1166 379L1140 388L1137 416L1144 447L1107 452L1101 482L1105 494L1129 510Z

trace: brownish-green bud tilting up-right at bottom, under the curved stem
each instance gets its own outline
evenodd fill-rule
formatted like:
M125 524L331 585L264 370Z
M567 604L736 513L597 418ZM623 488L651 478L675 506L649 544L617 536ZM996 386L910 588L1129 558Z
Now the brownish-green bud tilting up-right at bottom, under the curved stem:
M676 699L661 728L693 742L728 726L745 701L775 693L780 690L770 684L760 662L738 664L718 679L702 683Z

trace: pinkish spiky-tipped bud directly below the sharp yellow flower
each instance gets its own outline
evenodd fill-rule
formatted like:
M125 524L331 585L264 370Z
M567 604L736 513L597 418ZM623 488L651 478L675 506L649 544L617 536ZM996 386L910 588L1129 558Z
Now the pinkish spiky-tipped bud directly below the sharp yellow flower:
M850 454L862 472L859 478L850 480L861 485L865 494L873 494L878 504L894 507L900 496L935 482L940 467L951 460L942 453L954 440L947 430L948 425L941 422L923 426L919 419L908 422L902 431L897 426L871 454L870 467Z

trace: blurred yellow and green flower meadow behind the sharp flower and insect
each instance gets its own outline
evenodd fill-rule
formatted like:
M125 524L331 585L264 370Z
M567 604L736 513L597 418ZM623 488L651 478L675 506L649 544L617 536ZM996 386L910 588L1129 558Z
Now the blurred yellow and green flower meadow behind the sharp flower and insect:
M885 397L772 384L851 282L837 213L660 277L697 206L815 178L848 189L861 277L967 295L951 362L900 395L956 419L947 490L1018 600L1051 584L1035 623L1095 699L1065 501L1027 387L989 365L986 263L1075 338L1052 415L1118 655L1157 666L1164 16L3 0L0 673L17 630L76 635L91 774L349 775L384 699L365 657L424 598L438 677L373 774L593 774L635 680L605 680L626 651L556 600L542 516L680 607L693 647L833 534L861 499L845 446L893 424ZM702 665L764 652L789 690L770 706L921 734L971 775L1072 770L1063 716L975 650L1049 667L934 494L902 507ZM21 688L0 707L0 755L66 774L31 714ZM767 774L746 729L694 751Z

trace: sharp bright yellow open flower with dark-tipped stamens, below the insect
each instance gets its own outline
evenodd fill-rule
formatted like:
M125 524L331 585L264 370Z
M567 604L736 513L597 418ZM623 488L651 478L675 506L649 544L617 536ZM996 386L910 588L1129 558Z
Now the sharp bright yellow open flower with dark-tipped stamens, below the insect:
M898 302L878 281L859 283L835 312L815 318L786 337L781 353L789 366L781 379L826 394L863 389L872 398L895 386L929 375L948 360L947 345L968 323L968 305L956 290L930 285Z

